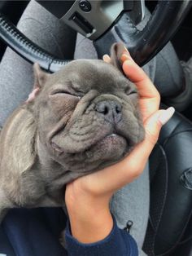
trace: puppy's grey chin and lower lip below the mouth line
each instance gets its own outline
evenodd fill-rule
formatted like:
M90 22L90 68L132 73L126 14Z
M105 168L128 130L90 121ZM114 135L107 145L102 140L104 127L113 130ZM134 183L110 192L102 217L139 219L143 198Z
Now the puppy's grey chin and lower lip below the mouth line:
M55 143L51 143L51 146L57 152L59 162L63 166L68 170L81 172L109 166L123 158L130 148L127 139L116 134L107 135L85 151L76 153L65 152L64 148L60 148Z

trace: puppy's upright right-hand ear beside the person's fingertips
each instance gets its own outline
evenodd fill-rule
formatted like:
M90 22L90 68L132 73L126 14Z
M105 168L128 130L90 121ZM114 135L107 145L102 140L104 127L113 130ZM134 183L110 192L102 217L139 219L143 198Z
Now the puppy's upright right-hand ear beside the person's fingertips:
M111 61L110 63L118 68L123 73L121 55L124 53L125 48L123 42L116 42L111 46Z

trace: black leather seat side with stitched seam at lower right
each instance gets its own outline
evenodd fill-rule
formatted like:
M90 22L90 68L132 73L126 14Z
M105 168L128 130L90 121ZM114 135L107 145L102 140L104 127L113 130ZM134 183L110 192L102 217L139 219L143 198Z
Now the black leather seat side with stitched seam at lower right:
M161 130L150 170L151 210L144 249L147 255L170 255L192 213L192 123L181 114Z

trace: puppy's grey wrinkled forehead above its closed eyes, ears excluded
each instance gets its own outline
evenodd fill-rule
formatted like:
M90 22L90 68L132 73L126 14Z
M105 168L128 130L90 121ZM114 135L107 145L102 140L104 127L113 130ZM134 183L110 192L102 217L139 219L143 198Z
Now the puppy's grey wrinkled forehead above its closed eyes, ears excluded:
M130 84L117 68L103 60L74 60L51 75L48 83L47 86L67 84L85 93L89 90L110 93Z

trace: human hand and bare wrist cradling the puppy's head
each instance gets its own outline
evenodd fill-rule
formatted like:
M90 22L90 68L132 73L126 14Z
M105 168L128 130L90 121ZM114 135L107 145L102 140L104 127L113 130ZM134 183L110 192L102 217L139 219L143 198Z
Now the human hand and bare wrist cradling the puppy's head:
M108 58L104 60L108 62ZM125 75L137 86L146 137L124 160L67 185L65 201L72 235L85 243L102 240L109 234L113 224L109 211L112 194L142 174L161 127L174 113L174 108L159 110L158 91L128 51L124 51L121 60Z

